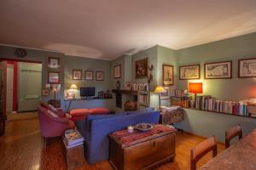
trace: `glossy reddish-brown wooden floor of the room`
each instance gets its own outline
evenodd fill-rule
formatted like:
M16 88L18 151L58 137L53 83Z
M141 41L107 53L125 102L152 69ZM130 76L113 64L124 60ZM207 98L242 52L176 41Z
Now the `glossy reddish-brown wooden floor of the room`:
M30 117L30 116L28 116ZM199 144L203 138L189 134L177 133L176 157L172 163L166 163L159 170L185 170L189 169L190 150ZM224 144L218 144L218 153L224 150ZM207 154L198 163L200 167L211 159L212 153ZM44 140L40 135L38 118L18 119L7 122L6 132L0 137L0 169L29 170L49 169L62 170L66 162L62 155L61 139L44 147ZM79 169L86 170L112 170L108 161L102 161L90 166L85 163Z

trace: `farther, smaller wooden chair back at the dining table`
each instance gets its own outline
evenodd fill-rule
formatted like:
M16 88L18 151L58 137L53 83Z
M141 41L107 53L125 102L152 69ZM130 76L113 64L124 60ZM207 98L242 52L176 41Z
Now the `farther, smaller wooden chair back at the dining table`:
M225 148L230 147L230 140L239 136L239 139L242 137L241 125L236 127L231 127L228 131L225 132Z

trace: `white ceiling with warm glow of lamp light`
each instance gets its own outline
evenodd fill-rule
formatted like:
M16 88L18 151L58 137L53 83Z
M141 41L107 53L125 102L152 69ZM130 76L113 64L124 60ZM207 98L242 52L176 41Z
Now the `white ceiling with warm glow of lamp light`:
M0 43L114 59L256 31L255 0L1 0Z

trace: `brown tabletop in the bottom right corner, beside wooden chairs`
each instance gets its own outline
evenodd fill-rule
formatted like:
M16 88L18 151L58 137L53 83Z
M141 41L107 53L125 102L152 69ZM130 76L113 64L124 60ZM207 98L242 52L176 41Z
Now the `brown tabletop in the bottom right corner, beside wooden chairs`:
M200 170L256 170L256 129L213 157Z

